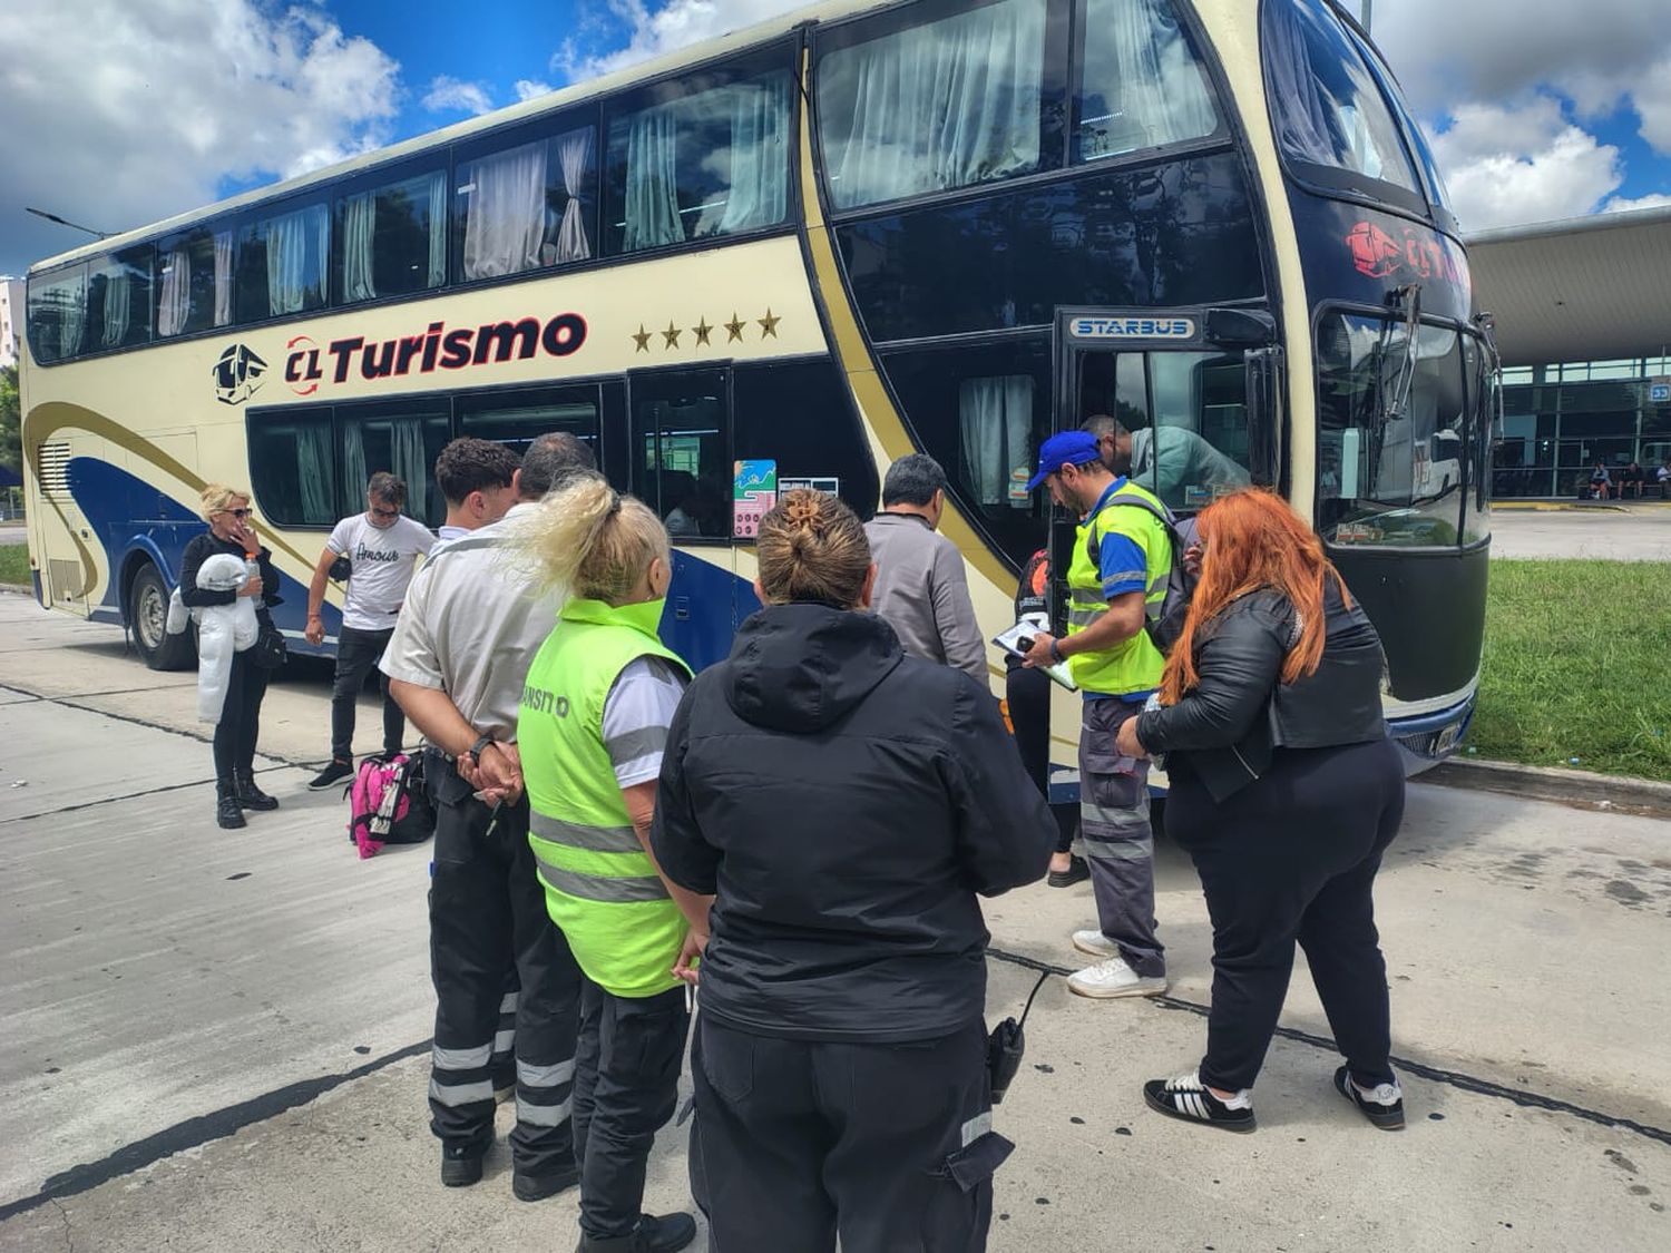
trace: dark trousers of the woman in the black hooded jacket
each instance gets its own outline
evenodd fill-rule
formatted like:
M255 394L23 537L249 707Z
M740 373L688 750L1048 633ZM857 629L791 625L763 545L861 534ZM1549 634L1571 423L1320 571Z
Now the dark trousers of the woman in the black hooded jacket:
M692 1191L712 1253L969 1253L993 1171L986 1029L914 1044L750 1036L697 1021Z

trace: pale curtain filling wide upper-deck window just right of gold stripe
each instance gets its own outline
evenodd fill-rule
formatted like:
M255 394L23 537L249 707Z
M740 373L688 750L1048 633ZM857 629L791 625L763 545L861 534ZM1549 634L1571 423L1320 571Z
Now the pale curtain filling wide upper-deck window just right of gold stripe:
M1038 169L1044 0L999 0L841 48L819 67L837 209Z

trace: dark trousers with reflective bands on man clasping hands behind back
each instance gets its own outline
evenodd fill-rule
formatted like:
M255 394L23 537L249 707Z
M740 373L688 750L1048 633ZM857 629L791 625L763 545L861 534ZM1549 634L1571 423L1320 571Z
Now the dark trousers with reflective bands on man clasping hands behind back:
M573 1169L575 1037L580 967L545 912L528 847L528 802L493 810L471 797L446 758L426 765L436 800L429 885L434 1053L429 1126L448 1148L486 1151L493 1139L493 1054L501 1011L516 1032L516 1129L511 1161L523 1174ZM488 830L491 825L491 832ZM520 989L506 992L510 972Z

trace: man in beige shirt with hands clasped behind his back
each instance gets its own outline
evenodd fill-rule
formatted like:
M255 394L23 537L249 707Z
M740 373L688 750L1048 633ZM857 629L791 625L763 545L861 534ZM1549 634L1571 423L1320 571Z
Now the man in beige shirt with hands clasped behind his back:
M580 1178L571 1101L582 981L535 875L515 738L523 680L556 626L561 596L530 595L528 576L505 560L503 523L478 526L453 508L470 495L453 473L470 451L461 446L481 443L455 439L436 461L448 513L468 533L418 571L381 668L429 743L429 1129L441 1141L441 1183L465 1188L481 1179L493 1144L496 1037L508 1034L501 1012L513 1012L511 1191L538 1201ZM592 466L590 449L571 434L540 436L516 471L518 503L506 518Z

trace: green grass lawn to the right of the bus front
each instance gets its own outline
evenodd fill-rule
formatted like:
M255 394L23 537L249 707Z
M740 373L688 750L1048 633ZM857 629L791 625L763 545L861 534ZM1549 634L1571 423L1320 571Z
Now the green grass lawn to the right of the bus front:
M1481 757L1671 782L1671 570L1492 561Z

